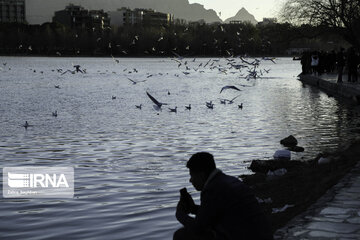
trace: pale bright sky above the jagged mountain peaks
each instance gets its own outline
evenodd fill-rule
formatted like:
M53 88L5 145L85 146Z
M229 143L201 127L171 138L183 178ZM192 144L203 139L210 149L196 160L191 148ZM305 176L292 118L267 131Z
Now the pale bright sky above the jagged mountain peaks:
M200 3L206 9L214 9L220 18L233 17L242 7L255 16L257 21L264 17L276 17L284 0L189 0L190 3Z

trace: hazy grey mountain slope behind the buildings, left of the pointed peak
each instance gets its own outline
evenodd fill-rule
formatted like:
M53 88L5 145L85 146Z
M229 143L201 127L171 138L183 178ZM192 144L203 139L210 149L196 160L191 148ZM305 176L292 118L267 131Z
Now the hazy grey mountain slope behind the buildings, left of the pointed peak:
M81 5L86 9L115 11L121 7L151 8L158 12L171 13L175 18L187 21L205 20L207 23L222 22L216 12L205 9L198 3L190 4L188 0L25 0L26 19L30 24L50 22L55 11L65 8L70 3Z

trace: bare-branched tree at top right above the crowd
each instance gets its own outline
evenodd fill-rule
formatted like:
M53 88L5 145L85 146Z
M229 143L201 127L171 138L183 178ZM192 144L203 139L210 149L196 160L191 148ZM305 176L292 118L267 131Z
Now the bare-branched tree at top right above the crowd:
M287 0L280 15L293 24L335 28L360 46L360 0Z

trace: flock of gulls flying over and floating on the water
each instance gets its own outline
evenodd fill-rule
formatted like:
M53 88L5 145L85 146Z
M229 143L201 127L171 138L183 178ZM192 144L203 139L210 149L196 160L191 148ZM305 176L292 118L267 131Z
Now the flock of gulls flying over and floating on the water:
M189 58L185 58L182 56L179 56L178 54L176 54L175 52L173 52L174 57L171 58L171 61L174 61L177 63L177 68L180 70L180 73L175 73L174 76L180 78L180 74L184 74L185 76L193 74L193 73L204 73L205 70L211 70L211 71L217 71L220 74L237 74L237 76L239 78L243 78L247 81L249 81L250 79L257 79L257 78L261 78L264 73L268 73L270 71L270 69L261 69L260 68L260 62L261 61L271 61L275 64L274 58L261 58L261 59L246 59L244 57L232 57L232 58L225 58L226 64L221 65L220 64L220 59L209 59L207 62L203 62L201 61L200 63L196 62L196 58L193 58L192 60L189 60ZM114 60L115 63L120 64L120 61L118 59L115 59L113 56L111 56ZM4 66L6 66L6 63L3 63ZM87 71L84 68L81 68L80 65L73 65L74 69L67 69L67 70L63 70L61 68L56 69L56 70L52 70L57 71L58 73L60 73L60 75L64 75L66 73L71 73L71 74L76 74L76 73L80 73L80 74L86 74ZM11 70L11 68L9 68L9 70ZM245 70L245 71L244 71ZM36 72L36 70L33 70L34 72ZM137 73L138 70L136 68L132 68L130 70L128 70L127 68L125 68L123 70L123 72L127 72L127 74L131 74L131 73ZM41 73L43 73L41 71ZM152 73L147 73L146 78L150 78L150 77L154 77L156 74ZM158 75L163 75L163 73L158 73ZM144 83L147 81L147 79L142 79L142 80L134 80L133 78L130 77L126 77L131 84L135 85L135 84L139 84L139 83ZM253 85L245 85L245 84L238 84L237 86L235 85L225 85L224 87L222 87L219 91L219 93L221 94L224 91L236 91L236 92L240 92L242 91L240 89L241 87L252 87ZM60 89L60 85L54 85L55 88ZM162 107L164 105L169 105L168 103L164 103L161 102L159 100L157 100L153 95L150 94L149 91L146 91L146 95L148 96L148 98L154 103L154 109L157 111L161 111ZM168 95L170 95L170 91L168 91ZM220 99L220 104L233 104L235 102L235 100L239 97L240 95L237 95L235 97L233 97L232 99L225 99L225 98L219 98ZM111 97L112 100L116 99L116 96L112 96ZM213 101L209 101L209 102L205 102L204 104L206 106L206 108L208 109L214 109L214 103ZM139 104L139 105L135 105L136 109L141 110L143 107L143 104ZM184 106L186 111L190 111L192 109L191 104L188 104L186 106ZM237 105L238 109L243 109L243 103L240 103ZM168 112L172 112L172 113L177 113L178 111L178 107L175 106L173 108L168 107ZM52 116L53 117L57 117L58 116L58 112L57 110L52 112ZM30 125L27 121L25 122L25 124L22 125L25 129L27 129L28 127L32 126Z

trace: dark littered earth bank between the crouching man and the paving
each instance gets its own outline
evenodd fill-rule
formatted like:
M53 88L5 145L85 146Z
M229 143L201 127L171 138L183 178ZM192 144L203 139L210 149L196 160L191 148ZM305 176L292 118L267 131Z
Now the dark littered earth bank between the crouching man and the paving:
M342 150L324 153L329 163L319 164L319 157L308 161L254 160L253 175L239 176L260 201L273 232L304 213L359 162L360 139ZM282 176L268 176L268 171L286 169Z

